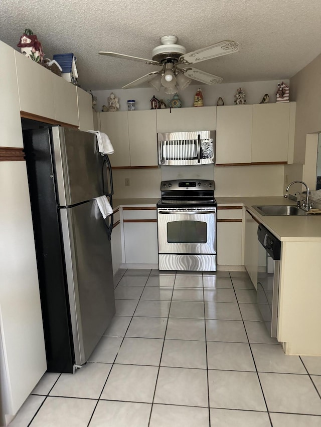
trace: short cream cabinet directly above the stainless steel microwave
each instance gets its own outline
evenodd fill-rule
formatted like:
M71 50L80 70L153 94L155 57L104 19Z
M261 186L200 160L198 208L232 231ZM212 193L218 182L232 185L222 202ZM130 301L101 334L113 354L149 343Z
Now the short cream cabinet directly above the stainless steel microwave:
M216 107L156 110L157 132L215 131Z

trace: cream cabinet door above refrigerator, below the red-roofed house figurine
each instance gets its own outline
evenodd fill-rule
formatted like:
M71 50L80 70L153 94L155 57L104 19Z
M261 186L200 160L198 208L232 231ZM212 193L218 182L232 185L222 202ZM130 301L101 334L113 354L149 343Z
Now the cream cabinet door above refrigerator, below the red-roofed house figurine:
M15 51L20 110L55 119L54 74Z

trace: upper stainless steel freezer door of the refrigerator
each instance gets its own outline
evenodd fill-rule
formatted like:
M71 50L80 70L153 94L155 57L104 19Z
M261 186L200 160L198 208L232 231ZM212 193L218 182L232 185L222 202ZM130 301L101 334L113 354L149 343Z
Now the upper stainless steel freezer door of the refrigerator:
M75 205L104 194L106 164L94 134L53 127L52 145L60 206Z

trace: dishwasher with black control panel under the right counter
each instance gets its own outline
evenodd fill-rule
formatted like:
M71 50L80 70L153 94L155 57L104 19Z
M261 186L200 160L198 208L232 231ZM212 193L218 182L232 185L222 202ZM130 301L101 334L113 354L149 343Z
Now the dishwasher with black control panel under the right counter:
M258 226L257 238L259 245L256 302L271 337L276 338L281 242L262 224Z

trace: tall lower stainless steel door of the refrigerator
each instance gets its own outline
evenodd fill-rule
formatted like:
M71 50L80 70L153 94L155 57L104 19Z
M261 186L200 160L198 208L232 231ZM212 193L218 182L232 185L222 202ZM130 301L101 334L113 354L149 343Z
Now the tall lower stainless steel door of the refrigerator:
M60 215L75 364L82 365L115 312L110 240L95 200Z

